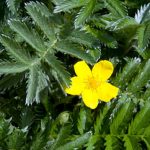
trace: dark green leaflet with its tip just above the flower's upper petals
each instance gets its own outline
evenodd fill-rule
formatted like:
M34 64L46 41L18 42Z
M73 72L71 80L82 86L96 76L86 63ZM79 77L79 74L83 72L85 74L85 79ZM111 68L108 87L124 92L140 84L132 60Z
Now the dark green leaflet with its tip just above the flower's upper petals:
M57 42L55 44L55 49L63 53L76 56L80 59L87 61L90 64L95 63L94 58L90 54L86 53L81 48L78 48L75 44L69 43L68 41L64 40L64 41Z

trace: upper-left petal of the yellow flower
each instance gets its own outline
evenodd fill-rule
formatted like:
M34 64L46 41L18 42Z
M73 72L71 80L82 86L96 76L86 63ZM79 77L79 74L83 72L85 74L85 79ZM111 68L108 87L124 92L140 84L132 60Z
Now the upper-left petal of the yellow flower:
M86 64L85 61L79 61L74 65L75 73L78 77L85 79L89 76L92 76L91 69Z

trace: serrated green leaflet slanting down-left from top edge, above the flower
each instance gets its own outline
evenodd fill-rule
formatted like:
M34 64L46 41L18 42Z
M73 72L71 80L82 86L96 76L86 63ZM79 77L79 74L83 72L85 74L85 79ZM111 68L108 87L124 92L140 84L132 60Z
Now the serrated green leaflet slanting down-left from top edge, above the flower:
M82 27L82 25L84 25L85 21L92 14L95 8L95 5L96 5L96 0L88 0L86 2L86 5L81 8L80 12L76 16L75 28L79 28L79 27Z

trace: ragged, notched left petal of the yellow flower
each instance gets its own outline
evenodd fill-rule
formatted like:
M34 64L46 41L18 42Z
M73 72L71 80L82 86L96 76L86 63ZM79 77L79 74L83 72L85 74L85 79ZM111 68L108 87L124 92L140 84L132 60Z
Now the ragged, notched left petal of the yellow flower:
M80 95L84 88L84 83L78 77L71 78L71 86L65 89L65 92L71 95Z

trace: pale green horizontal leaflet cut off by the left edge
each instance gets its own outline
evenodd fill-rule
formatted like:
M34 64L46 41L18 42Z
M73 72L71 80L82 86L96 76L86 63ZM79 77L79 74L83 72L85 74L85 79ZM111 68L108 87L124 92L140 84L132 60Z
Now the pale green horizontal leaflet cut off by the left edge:
M14 63L14 62L1 62L0 63L0 74L8 74L8 73L19 73L27 70L29 66Z

